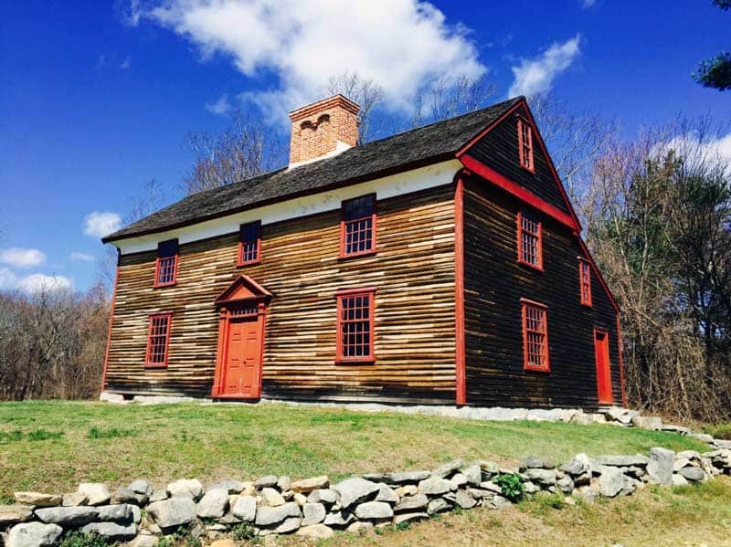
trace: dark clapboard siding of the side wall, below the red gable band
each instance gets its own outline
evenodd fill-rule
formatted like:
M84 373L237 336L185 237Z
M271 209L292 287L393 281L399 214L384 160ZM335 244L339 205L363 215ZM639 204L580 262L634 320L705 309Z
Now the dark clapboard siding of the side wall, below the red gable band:
M593 329L609 331L614 401L621 404L616 314L592 274L593 307L581 306L577 238L544 216L544 272L517 263L512 196L465 178L465 339L470 405L598 405ZM520 299L548 307L550 373L523 366Z

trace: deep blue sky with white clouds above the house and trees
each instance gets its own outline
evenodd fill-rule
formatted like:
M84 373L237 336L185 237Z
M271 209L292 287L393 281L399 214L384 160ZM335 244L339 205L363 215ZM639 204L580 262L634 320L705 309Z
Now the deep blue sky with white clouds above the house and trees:
M178 198L185 135L223 129L227 107L288 131L284 112L345 69L404 116L435 75L487 74L495 100L553 89L630 138L680 111L729 118L731 93L690 78L729 23L710 0L4 2L0 289L89 288L101 231L151 178Z

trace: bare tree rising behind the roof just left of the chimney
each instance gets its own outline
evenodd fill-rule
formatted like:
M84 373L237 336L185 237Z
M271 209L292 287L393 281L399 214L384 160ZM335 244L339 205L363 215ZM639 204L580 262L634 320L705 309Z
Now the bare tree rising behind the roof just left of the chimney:
M183 176L184 195L238 183L286 163L281 135L251 111L237 110L228 128L216 136L190 133L186 147L194 163Z

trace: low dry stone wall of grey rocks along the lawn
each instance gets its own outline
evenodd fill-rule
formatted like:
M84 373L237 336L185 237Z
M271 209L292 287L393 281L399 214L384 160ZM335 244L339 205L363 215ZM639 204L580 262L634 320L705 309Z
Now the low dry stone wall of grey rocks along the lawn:
M335 483L325 476L291 480L276 475L207 488L198 479L176 480L161 489L143 479L114 490L81 483L67 494L16 492L14 504L0 505L0 533L7 547L51 547L69 531L132 547L154 547L181 530L204 543L236 533L324 539L335 530L421 521L455 508L500 510L516 492L529 497L560 492L567 503L591 503L599 497L630 496L647 484L679 486L731 475L731 441L663 426L657 418L643 421L626 409L607 411L606 419L620 426L676 431L712 449L674 453L655 447L647 455L599 458L577 454L560 465L530 457L518 468L458 459L430 470L371 473Z

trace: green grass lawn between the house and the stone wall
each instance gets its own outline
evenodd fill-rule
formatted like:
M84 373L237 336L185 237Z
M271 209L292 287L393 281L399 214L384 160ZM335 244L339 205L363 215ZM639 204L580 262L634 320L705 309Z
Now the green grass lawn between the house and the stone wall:
M0 496L73 491L80 481L293 479L433 468L451 458L565 461L577 452L708 448L671 433L618 426L480 422L290 405L0 404Z

